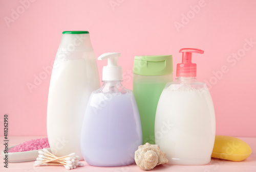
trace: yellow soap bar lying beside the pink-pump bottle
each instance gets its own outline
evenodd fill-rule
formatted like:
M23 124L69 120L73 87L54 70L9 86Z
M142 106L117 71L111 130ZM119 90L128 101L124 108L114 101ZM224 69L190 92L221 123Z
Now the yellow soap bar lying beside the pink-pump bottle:
M250 146L236 137L216 136L212 158L242 161L251 155Z

